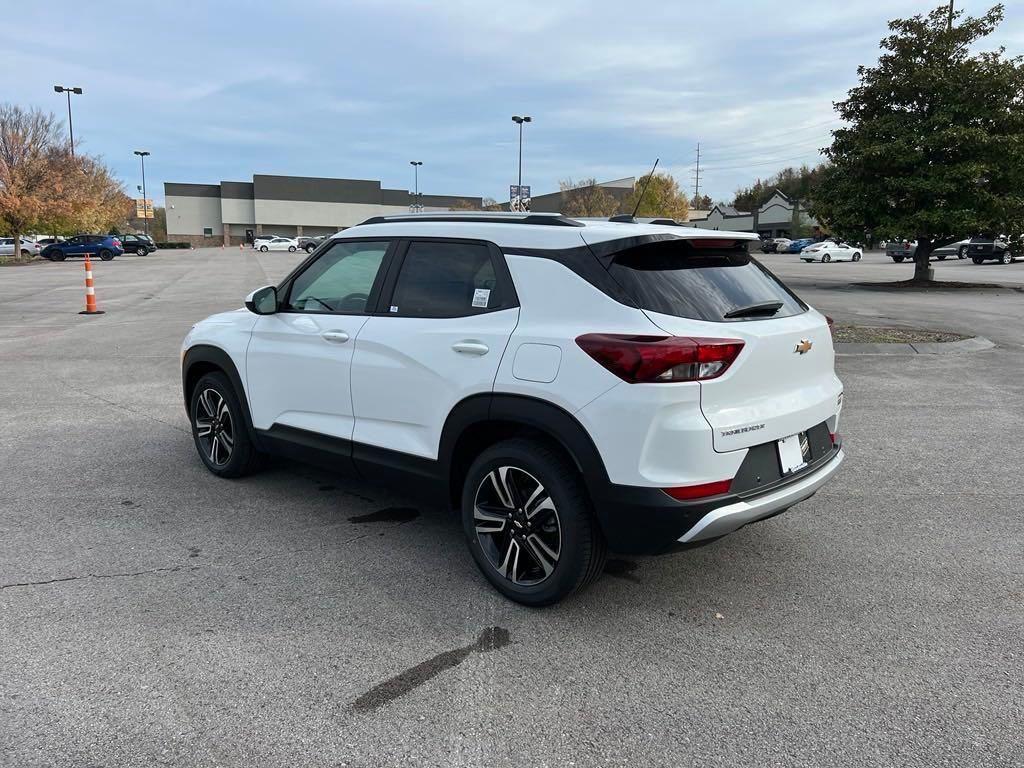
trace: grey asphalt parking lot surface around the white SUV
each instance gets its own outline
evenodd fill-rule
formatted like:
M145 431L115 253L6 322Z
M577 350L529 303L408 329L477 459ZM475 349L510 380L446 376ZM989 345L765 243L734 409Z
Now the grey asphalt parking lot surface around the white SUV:
M196 457L182 336L302 256L96 263L91 317L80 261L0 268L0 765L1024 764L1024 293L766 256L839 322L998 346L840 356L835 482L531 610L413 488Z

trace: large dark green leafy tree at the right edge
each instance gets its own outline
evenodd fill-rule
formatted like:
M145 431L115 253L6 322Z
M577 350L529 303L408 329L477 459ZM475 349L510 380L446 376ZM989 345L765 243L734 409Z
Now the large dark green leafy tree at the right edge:
M836 104L812 212L841 237L916 240L914 280L936 248L1024 231L1024 59L978 41L1002 20L950 13L890 22L877 67Z

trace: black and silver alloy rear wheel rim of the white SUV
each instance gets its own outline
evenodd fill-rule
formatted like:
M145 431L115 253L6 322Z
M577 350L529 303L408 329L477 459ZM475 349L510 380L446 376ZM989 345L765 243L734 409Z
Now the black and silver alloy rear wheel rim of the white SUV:
M520 587L545 581L558 565L562 529L554 500L529 472L500 466L473 500L476 540L492 567Z

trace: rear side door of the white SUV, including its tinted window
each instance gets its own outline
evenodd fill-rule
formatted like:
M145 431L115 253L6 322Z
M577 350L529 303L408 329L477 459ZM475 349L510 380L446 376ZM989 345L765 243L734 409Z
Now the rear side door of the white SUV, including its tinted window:
M511 275L493 244L410 240L381 301L355 340L353 456L375 446L436 459L452 408L494 389L519 318Z

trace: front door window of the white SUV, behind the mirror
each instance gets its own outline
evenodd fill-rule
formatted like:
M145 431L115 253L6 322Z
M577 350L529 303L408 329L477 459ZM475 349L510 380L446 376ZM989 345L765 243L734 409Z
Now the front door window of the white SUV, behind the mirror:
M367 300L388 245L387 241L335 243L292 282L285 309L349 314L366 312Z

